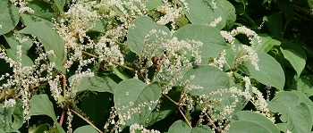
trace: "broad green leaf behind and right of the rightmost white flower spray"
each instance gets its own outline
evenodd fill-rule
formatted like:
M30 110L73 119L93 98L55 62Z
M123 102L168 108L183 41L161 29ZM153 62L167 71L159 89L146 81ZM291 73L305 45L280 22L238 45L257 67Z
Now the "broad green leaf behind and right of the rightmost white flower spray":
M253 79L257 79L262 84L283 90L285 79L283 69L279 62L265 53L258 53L258 59L259 71L257 71L250 62L245 62L241 65L240 70Z

